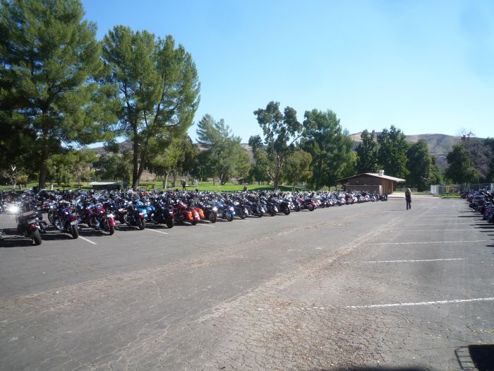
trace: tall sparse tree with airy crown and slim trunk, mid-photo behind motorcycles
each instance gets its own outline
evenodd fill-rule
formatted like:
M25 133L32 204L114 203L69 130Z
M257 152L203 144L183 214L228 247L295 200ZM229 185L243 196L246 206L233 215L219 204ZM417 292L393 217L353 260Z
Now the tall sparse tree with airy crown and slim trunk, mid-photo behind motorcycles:
M277 189L283 163L295 150L294 143L300 137L302 125L296 119L296 110L285 107L282 113L279 102L269 102L265 110L260 108L254 114L263 129L268 158L274 164L272 177Z

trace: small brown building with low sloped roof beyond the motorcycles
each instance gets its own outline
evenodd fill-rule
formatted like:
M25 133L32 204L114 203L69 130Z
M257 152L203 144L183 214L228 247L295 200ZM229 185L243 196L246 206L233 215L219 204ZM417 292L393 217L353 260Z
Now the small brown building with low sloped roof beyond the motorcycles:
M394 183L402 183L405 179L384 175L384 170L379 172L363 172L353 177L337 180L339 184L346 184L347 191L360 191L383 194L392 194Z

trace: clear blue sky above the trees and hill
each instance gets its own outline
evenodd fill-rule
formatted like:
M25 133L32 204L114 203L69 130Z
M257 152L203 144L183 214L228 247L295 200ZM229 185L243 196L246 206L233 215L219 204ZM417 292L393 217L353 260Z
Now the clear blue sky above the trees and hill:
M271 100L333 110L350 134L468 129L494 137L494 1L83 0L98 39L114 25L172 35L201 83L195 114L243 142ZM189 131L195 139L195 126Z

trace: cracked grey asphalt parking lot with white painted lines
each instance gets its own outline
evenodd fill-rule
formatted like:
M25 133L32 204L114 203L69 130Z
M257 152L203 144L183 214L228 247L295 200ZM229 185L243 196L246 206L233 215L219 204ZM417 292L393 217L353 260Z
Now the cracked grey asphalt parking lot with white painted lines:
M464 200L412 207L51 231L38 247L0 215L0 369L488 370L494 228Z

